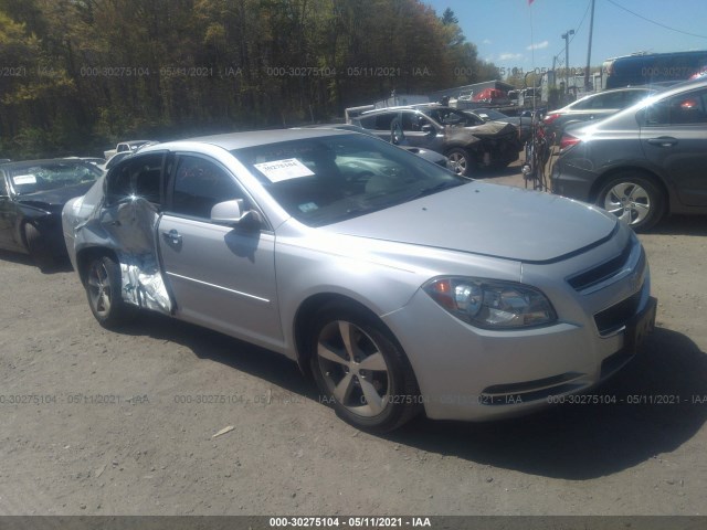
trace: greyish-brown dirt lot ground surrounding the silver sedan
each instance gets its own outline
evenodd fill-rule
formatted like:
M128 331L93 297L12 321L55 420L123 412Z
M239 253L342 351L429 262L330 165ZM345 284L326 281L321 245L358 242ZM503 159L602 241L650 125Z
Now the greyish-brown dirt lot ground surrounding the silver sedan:
M390 436L284 358L159 316L106 331L73 272L1 254L0 513L704 513L706 236L704 218L641 236L658 329L599 389L616 404Z

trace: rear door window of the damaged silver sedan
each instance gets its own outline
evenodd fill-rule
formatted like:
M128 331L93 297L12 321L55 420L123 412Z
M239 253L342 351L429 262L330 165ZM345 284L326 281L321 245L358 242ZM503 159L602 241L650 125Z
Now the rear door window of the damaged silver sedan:
M117 166L108 176L108 203L139 197L160 204L163 158L163 153L156 152L130 158Z

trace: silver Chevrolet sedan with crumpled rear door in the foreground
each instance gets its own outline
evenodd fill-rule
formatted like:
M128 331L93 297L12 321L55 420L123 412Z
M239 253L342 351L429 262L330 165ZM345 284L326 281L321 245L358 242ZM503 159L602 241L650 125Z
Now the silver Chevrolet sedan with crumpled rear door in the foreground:
M585 391L655 318L641 243L613 215L342 130L148 147L63 225L103 326L147 308L275 350L377 432Z

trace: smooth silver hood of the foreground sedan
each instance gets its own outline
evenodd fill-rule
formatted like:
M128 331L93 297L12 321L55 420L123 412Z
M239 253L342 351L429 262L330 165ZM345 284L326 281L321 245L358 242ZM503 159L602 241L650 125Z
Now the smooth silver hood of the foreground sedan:
M526 263L569 257L611 237L615 218L558 195L471 182L326 230Z

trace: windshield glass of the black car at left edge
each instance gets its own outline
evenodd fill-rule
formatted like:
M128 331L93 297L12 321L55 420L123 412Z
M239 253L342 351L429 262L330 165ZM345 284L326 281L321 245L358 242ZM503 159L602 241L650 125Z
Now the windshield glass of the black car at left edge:
M89 165L72 161L29 162L9 171L19 195L95 182L103 172Z

